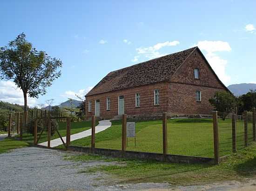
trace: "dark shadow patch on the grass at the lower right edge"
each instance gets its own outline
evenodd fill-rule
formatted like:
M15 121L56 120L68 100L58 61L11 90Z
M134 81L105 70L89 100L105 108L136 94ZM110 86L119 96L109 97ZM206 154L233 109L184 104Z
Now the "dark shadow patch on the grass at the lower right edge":
M256 175L256 157L236 165L235 171L242 176Z

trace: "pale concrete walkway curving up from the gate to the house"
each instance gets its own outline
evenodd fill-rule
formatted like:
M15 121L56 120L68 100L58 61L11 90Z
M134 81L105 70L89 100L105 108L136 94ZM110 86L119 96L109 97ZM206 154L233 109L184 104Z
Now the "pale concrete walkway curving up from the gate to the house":
M104 131L108 127L111 127L110 120L99 121L99 125L97 125L95 127L95 133L99 133L101 131ZM72 129L72 127L71 127L71 129ZM88 137L90 135L92 135L92 129L91 128L86 130L86 131L82 131L78 134L72 134L70 136L70 141L81 139L81 138L84 138L84 137ZM64 142L66 142L66 137L62 137L62 139L64 140ZM47 141L43 142L43 143L40 143L39 145L47 146ZM55 146L59 146L59 145L62 145L61 138L51 140L51 147L55 147Z

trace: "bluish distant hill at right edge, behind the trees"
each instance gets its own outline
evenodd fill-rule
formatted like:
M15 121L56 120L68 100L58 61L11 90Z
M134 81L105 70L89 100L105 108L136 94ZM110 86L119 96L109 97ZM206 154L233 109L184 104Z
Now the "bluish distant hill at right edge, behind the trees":
M246 94L250 91L250 89L255 90L256 84L255 83L240 83L240 84L232 84L228 86L228 89L235 95L241 96Z

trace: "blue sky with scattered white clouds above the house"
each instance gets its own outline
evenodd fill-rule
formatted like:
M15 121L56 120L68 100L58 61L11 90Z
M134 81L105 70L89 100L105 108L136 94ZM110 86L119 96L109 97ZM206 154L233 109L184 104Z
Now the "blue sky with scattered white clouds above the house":
M255 0L1 0L0 47L20 33L63 62L30 107L84 97L110 71L198 46L228 86L256 83ZM0 100L23 104L0 81Z

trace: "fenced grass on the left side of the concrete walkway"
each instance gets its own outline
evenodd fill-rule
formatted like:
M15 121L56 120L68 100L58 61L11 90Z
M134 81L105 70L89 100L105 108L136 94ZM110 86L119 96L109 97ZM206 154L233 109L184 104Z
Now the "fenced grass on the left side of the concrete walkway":
M67 135L67 123L66 122L58 122L59 123L59 132L62 137L65 137ZM98 122L96 122L98 124ZM77 134L81 131L85 131L91 128L91 122L90 121L82 121L82 122L71 122L71 134ZM40 135L40 132L38 132L38 137ZM18 135L19 137L20 135ZM23 133L22 140L26 142L33 143L34 136L32 134ZM57 132L51 137L51 140L60 138ZM47 141L47 131L44 131L41 135L40 140L38 143L42 143Z

